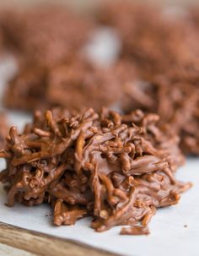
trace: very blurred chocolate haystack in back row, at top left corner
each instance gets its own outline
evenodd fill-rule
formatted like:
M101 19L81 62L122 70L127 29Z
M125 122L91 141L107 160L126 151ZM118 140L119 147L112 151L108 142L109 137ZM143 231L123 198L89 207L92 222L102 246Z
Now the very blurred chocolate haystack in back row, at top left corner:
M0 27L21 66L53 67L79 54L94 25L70 8L43 6L4 10Z

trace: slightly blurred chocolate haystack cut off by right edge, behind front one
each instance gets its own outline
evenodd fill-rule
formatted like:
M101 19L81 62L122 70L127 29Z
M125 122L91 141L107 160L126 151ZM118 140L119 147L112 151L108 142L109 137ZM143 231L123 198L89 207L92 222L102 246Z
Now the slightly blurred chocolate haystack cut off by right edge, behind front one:
M156 112L180 135L185 154L199 155L199 75L198 71L173 70L153 79ZM153 109L151 109L153 111Z

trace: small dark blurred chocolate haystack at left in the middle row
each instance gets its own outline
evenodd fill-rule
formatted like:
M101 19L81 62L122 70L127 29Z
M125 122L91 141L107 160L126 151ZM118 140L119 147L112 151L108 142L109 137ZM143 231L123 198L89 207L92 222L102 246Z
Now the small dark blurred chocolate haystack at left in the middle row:
M42 67L26 67L15 74L5 90L3 103L12 109L26 112L35 108L47 108L46 102L47 70Z

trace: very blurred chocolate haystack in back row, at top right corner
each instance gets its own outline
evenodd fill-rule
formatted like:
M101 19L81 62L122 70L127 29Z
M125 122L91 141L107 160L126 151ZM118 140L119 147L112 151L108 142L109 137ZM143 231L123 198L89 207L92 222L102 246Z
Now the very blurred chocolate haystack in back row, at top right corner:
M198 68L195 16L190 8L117 1L102 6L98 20L116 29L121 38L121 58L131 60L148 78L171 68L184 67L187 72L192 66Z

